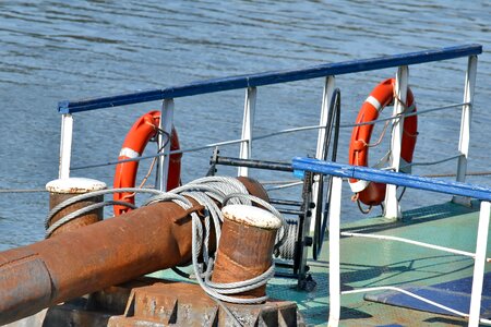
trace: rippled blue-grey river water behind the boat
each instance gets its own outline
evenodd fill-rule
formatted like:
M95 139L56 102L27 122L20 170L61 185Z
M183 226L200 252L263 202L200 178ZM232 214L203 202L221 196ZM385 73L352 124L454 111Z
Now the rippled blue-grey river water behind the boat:
M487 152L490 17L491 3L486 0L407 4L358 0L0 1L0 189L43 189L57 178L59 100L469 43L484 46L478 64L469 170L491 170ZM462 101L465 69L465 59L411 68L410 84L419 108ZM394 73L339 76L342 122L352 122L373 86ZM254 133L316 124L322 86L319 78L260 88ZM75 116L73 166L116 159L132 122L156 108L158 102ZM243 90L176 100L181 145L238 138L242 108ZM415 161L455 154L459 119L459 110L421 118ZM342 131L343 162L349 134L349 130ZM309 132L288 141L258 142L254 156L289 160L312 155L314 138L315 132ZM236 147L221 152L237 155ZM184 182L206 172L209 155L209 150L184 155ZM455 162L415 168L419 174L454 170ZM219 172L230 170L220 168ZM73 174L110 185L113 167ZM471 181L491 184L489 178ZM405 195L407 207L435 198ZM40 240L47 203L46 193L0 193L0 250ZM347 219L357 219L359 214L349 199L346 207L350 208Z

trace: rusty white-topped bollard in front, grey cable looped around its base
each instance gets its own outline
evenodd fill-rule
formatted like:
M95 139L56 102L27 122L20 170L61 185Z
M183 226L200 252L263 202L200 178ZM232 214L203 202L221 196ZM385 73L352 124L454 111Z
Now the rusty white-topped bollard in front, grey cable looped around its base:
M273 247L282 220L264 209L228 205L221 209L224 225L212 280L228 283L260 276L273 263ZM266 286L235 294L240 299L261 298Z

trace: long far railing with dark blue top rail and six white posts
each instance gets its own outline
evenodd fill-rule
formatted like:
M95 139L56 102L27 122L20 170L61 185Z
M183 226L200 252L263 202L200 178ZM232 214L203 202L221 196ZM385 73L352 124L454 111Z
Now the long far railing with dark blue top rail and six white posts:
M286 71L273 71L259 74L247 74L240 76L230 76L225 78L215 78L208 81L200 81L180 86L172 86L164 89L153 89L147 92L136 92L131 94L123 94L117 96L93 98L79 101L61 101L59 104L59 111L62 113L61 118L61 142L60 142L60 169L59 178L70 177L71 171L71 146L73 137L73 113L81 111L95 110L99 108L111 108L122 105L139 104L145 101L163 100L161 113L160 113L160 126L159 129L164 133L159 133L157 136L158 147L161 148L161 154L158 154L157 164L157 177L156 186L165 191L168 178L170 144L165 142L165 134L170 135L173 123L173 114L178 112L175 110L173 98L211 94L223 90L231 90L242 88L246 90L246 99L243 106L242 116L242 130L238 140L225 141L223 143L208 144L203 147L194 147L188 150L200 150L216 145L238 144L239 145L239 158L251 159L252 158L252 144L253 141L271 137L286 132L294 132L300 130L318 130L318 141L315 149L315 158L322 158L326 153L328 146L326 145L326 136L328 132L325 126L327 125L327 119L331 117L330 110L333 102L333 95L337 89L335 87L335 77L337 75L367 72L387 68L397 68L394 83L394 109L393 125L391 129L391 156L387 157L387 166L390 169L398 171L400 169L400 154L402 154L402 135L403 135L403 121L400 119L404 116L406 101L406 94L409 85L409 65L435 62L442 60L450 60L456 58L467 57L467 71L464 84L464 100L462 104L462 121L460 121L460 135L458 142L458 164L456 169L456 180L465 181L467 172L467 157L469 148L470 136L470 117L474 100L474 88L476 82L477 72L477 55L482 52L481 45L462 45L455 47L446 47L439 49L431 49L424 51L385 56L372 59L351 60L337 63L325 63L307 69L295 69ZM322 93L322 105L320 110L320 123L319 126L306 126L300 129L290 129L289 131L275 132L271 135L263 135L256 137L253 135L254 130L254 116L255 105L258 96L258 87L263 85L272 85L295 81L304 81L311 78L324 77L324 87ZM456 107L459 105L450 105L447 107ZM436 110L435 108L433 108ZM426 111L422 111L426 112ZM381 121L381 120L379 120ZM254 137L255 136L255 137ZM142 159L142 158L136 158ZM116 164L116 162L115 162ZM111 162L112 165L112 162ZM86 167L95 167L97 165L89 165ZM107 162L98 166L107 166ZM79 169L82 169L79 167ZM239 167L238 175L247 177L248 167ZM314 203L318 204L318 194L320 184L314 181L312 186L312 193L314 194ZM396 217L399 213L398 197L395 189L390 186L386 192L385 208L387 217ZM454 202L467 204L467 198L454 197ZM320 204L318 204L320 205Z

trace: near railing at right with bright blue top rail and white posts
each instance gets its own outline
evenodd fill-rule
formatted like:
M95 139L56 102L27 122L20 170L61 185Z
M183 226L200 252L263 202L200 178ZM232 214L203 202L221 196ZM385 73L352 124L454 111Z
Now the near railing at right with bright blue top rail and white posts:
M355 291L340 291L340 235L373 238L409 243L417 246L430 247L453 254L470 256L475 259L472 274L472 290L470 294L469 314L454 311L447 306L436 303L436 306L447 310L454 314L469 318L469 326L478 326L479 323L490 324L490 319L480 318L482 286L484 278L484 265L490 263L487 258L488 233L491 216L491 189L469 183L445 181L433 178L410 175L395 171L386 171L368 167L350 166L345 164L328 162L313 158L294 158L292 168L299 172L313 172L333 175L333 189L330 199L330 324L337 326L340 317L340 295L354 292L369 292L382 289L392 289L404 292L410 296L431 303L432 301L422 296L408 293L399 288L360 288ZM465 196L481 201L479 222L477 227L476 252L469 253L457 249L439 246L434 244L417 242L405 238L394 238L381 234L347 233L340 231L340 207L342 207L342 183L343 179L357 179L370 182L385 183L397 186L411 187L423 191L452 194L454 196ZM431 304L434 304L431 303Z

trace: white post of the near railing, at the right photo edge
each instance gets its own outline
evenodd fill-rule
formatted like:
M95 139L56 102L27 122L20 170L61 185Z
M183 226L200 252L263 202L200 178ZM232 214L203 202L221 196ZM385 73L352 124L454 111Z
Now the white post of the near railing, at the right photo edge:
M476 241L476 259L474 263L472 292L470 293L469 326L479 326L481 313L482 284L484 279L486 253L488 249L489 219L491 203L482 202L479 213L479 226Z

